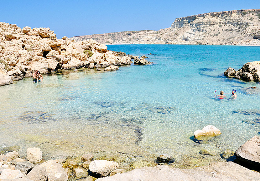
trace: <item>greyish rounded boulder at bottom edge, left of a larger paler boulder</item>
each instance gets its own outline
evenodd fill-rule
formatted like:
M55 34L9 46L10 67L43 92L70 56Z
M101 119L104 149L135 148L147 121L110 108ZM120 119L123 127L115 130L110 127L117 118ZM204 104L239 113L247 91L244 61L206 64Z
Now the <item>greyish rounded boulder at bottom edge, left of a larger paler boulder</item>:
M48 173L41 165L35 165L35 167L26 176L31 180L48 180Z

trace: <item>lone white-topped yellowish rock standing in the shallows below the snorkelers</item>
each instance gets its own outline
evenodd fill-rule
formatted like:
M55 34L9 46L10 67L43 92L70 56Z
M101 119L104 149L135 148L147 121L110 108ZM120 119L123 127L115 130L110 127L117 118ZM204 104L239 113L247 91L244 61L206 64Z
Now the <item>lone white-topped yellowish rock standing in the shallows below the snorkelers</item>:
M203 141L209 140L212 137L220 135L221 132L215 126L207 125L202 130L196 130L194 132L195 138L201 143Z

